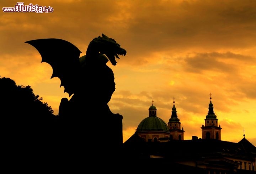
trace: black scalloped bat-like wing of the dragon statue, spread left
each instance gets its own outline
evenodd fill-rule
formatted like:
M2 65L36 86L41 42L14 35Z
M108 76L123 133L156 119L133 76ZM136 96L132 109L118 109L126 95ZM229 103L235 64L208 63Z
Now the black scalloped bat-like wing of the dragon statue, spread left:
M64 92L69 96L74 94L79 75L79 56L81 51L73 44L62 39L36 39L26 41L34 46L42 57L42 62L52 66L52 77L60 79L60 87L64 87Z

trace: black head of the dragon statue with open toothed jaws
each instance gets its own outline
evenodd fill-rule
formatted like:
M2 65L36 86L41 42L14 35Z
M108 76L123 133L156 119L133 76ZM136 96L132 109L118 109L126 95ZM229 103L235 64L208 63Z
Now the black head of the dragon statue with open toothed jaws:
M107 37L105 34L102 34L102 37L99 36L93 39L89 45L90 49L94 47L98 53L106 55L113 65L117 64L116 58L119 58L118 55L126 55L126 50L121 48L114 39Z

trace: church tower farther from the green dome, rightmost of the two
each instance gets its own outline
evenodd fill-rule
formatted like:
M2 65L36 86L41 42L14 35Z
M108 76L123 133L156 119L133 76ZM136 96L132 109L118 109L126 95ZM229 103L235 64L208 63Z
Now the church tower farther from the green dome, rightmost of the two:
M213 111L213 103L212 103L212 94L210 94L210 103L209 103L209 111L204 119L204 125L202 125L202 139L217 139L221 140L221 129L220 125L218 126L218 119Z

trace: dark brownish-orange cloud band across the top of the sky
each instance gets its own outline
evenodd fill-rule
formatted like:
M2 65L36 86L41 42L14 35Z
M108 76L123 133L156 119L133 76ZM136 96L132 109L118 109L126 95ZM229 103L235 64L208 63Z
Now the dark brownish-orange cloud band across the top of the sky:
M253 1L64 2L41 2L53 7L53 13L2 13L1 52L31 51L24 41L47 37L68 40L85 52L87 44L101 33L126 47L131 60L166 49L255 45ZM2 6L16 3L8 1ZM24 3L38 4L33 0Z

